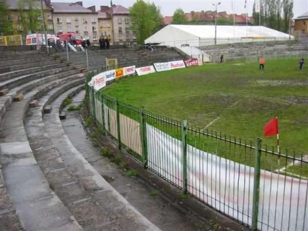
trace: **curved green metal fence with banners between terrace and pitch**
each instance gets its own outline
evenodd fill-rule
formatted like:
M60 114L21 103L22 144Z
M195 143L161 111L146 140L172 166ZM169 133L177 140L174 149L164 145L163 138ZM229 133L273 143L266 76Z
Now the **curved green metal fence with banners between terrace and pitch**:
M308 230L308 161L303 154L230 137L95 91L92 119L132 158L252 230Z

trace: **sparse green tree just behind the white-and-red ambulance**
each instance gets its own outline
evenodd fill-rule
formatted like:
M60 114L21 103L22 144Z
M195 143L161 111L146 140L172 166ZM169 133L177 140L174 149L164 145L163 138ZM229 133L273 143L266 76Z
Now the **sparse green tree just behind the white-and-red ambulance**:
M42 16L44 15L42 15L41 7L38 7L37 4L36 0L18 0L17 2L17 12L21 15L24 34L43 28Z

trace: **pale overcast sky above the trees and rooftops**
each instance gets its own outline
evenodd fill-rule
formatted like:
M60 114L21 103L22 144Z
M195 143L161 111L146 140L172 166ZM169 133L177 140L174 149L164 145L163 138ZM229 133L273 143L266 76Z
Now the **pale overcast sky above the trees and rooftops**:
M80 0L82 1L82 0ZM282 0L281 0L282 1ZM74 3L78 2L69 1L69 0L51 0L51 2L56 3ZM110 0L83 0L84 7L90 7L95 5L96 10L100 9L100 6L110 6ZM131 7L136 1L132 0L112 0L112 4L114 5L121 5L123 7L129 8ZM172 16L177 8L181 8L185 13L189 13L190 11L200 12L202 10L212 10L215 11L215 6L213 4L220 5L217 6L217 11L226 11L228 14L233 13L231 2L232 0L152 0L144 2L154 3L157 7L161 8L161 13L163 16ZM245 8L245 0L233 0L234 2L234 13L242 14L248 13L248 15L252 15L253 13L253 5L255 0L247 0L247 6ZM304 13L308 12L308 1L307 0L294 0L293 5L293 13L294 18L298 17Z

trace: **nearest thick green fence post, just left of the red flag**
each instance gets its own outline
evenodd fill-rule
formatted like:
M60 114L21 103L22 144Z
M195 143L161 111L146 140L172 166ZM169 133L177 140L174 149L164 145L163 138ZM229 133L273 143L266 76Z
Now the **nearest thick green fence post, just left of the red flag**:
M256 151L255 151L252 231L257 231L257 225L258 225L259 194L260 194L261 145L262 145L262 139L257 138L256 139Z

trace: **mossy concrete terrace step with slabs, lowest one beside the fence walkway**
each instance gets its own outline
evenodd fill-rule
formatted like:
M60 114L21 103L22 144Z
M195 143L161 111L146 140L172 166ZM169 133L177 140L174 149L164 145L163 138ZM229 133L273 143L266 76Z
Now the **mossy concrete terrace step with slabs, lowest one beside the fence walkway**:
M32 149L37 150L35 156L49 184L85 230L95 228L159 230L131 207L67 139L59 118L59 111L67 95L73 94L72 91L75 89L70 89L51 102L54 110L50 114L44 114L43 117L46 130L41 126L33 126L34 121L41 123L41 110L37 108L31 110L29 117L26 118L26 127L30 128L27 133L30 144ZM45 138L45 142L37 143L37 139L41 137ZM98 201L95 199L98 197L104 199ZM118 202L116 202L117 198ZM111 201L112 206L117 209L106 210L104 203L109 207ZM132 217L137 219L131 219Z

